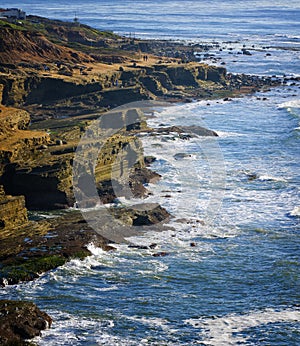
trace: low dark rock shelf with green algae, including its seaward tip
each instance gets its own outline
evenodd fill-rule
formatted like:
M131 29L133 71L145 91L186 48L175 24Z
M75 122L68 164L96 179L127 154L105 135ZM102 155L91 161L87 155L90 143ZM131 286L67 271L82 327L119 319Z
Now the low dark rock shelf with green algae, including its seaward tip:
M60 218L31 222L0 238L0 286L34 280L72 258L83 259L91 255L88 249L91 243L104 250L114 250L110 243L125 242L124 237L133 234L141 235L149 231L148 226L151 231L166 230L163 223L170 218L160 205L149 203L91 212L101 221L96 230L86 223L79 211L70 211ZM110 213L115 222L105 215L102 217L103 212Z

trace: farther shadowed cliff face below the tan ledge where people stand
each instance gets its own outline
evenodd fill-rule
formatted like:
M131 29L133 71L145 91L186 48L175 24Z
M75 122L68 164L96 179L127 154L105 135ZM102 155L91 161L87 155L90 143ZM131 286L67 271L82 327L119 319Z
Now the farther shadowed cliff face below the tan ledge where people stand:
M78 68L77 68L78 69ZM86 104L90 108L120 105L140 99L170 96L181 88L205 88L205 82L217 87L226 84L226 70L204 64L154 65L127 67L106 77L90 72L90 77L41 76L38 73L0 74L2 102L8 106L55 104L64 99L68 104ZM210 86L211 87L211 86ZM1 92L0 89L0 92ZM126 95L127 94L127 95ZM91 102L94 101L94 104Z

